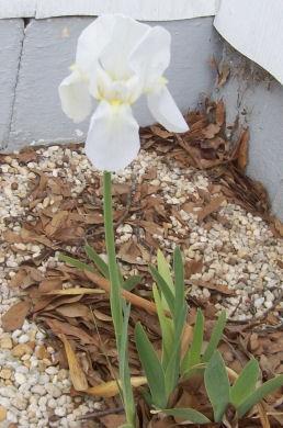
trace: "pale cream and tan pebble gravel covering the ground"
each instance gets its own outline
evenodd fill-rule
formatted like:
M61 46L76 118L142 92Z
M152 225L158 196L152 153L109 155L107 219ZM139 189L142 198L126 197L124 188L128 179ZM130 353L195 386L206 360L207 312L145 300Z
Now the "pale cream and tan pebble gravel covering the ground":
M31 221L25 204L35 169L50 177L61 177L72 184L77 196L90 183L93 170L81 148L50 146L36 150L37 160L26 165L7 156L0 166L0 236L7 230L19 232L23 219ZM167 204L176 205L178 216L171 216L168 234L154 237L167 254L178 244L176 234L183 238L186 262L202 260L202 270L190 280L214 282L235 290L234 295L214 293L216 308L225 308L230 317L248 320L262 316L273 307L283 290L283 241L275 238L269 225L259 216L245 212L240 206L224 201L218 215L225 222L212 218L210 227L197 222L197 211L180 209L188 194L197 200L200 191L207 192L210 180L205 172L193 168L183 169L173 161L169 165L155 153L140 151L131 168L115 176L116 182L126 182L133 176L139 182L148 169L157 170L157 178L150 181L161 189ZM34 214L45 205L52 205L49 198L34 207ZM228 225L228 226L227 226ZM171 234L173 230L174 234ZM125 223L117 229L117 245L128 241L133 227ZM69 247L69 250L73 248ZM18 267L30 259L36 259L42 245L8 245L0 240L0 314L16 302L21 292L9 288L10 279ZM56 266L57 255L45 260L38 270L44 272L48 263ZM190 294L203 301L211 297L205 286L190 285ZM280 303L283 308L283 303ZM280 315L275 312L275 315ZM93 398L71 397L67 370L54 365L54 349L45 345L44 333L30 322L21 330L4 333L0 324L0 426L5 427L82 427L79 417L97 408L101 403ZM14 425L13 425L14 424Z

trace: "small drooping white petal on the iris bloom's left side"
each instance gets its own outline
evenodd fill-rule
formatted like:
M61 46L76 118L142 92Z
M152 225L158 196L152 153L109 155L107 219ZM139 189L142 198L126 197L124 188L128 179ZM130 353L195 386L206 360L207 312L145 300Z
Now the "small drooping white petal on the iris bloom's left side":
M61 81L59 97L64 113L73 122L82 122L90 114L91 98L88 83L78 71L73 71Z

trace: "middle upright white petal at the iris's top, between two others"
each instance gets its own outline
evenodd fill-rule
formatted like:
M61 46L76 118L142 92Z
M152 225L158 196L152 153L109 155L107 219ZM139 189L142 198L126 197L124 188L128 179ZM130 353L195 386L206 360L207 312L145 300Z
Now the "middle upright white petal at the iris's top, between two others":
M114 20L111 42L103 49L100 60L112 79L127 79L133 74L129 67L131 54L147 33L149 25L121 14L114 15Z

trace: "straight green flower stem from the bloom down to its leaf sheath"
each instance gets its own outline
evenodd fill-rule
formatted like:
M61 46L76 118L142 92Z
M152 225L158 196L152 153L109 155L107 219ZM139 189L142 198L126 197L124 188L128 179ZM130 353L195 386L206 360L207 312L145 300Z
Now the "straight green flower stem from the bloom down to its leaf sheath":
M118 267L116 262L115 239L113 227L113 210L112 210L112 192L111 192L111 172L103 172L103 209L104 209L104 229L105 243L110 272L110 305L113 318L117 350L120 350L122 329L123 329L123 313L122 313L122 296L121 281L118 275Z

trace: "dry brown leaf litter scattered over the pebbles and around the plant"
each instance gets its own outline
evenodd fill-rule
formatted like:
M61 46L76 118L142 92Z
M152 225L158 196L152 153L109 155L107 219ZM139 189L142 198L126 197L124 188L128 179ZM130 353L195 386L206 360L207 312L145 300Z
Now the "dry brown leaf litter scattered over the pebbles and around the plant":
M219 85L228 71L223 72ZM151 302L151 281L147 264L155 261L155 254L160 247L158 236L170 236L173 237L174 244L183 248L188 246L185 235L180 232L188 222L180 210L188 215L194 215L199 225L207 230L215 221L229 229L229 221L220 214L222 209L227 203L237 204L269 221L275 236L282 235L281 224L270 215L264 189L245 174L248 162L248 129L239 128L237 120L233 126L226 126L223 101L206 100L202 111L189 113L188 121L191 131L182 136L169 133L158 125L143 129L143 147L161 156L165 164L176 162L183 169L193 168L192 173L195 173L195 169L205 171L210 182L207 190L196 187L196 192L186 194L185 201L177 207L174 201L171 200L170 204L170 201L163 198L155 168L146 169L139 181L131 177L128 182L117 182L113 185L116 230L124 225L124 236L129 234L125 241L117 239L117 257L126 275L129 272L142 275L140 283L133 292L123 292L124 297L132 303L128 329L129 362L136 385L143 385L145 382L144 378L140 378L140 365L134 345L134 326L137 320L142 320L146 327L156 349L160 349L160 331ZM76 151L75 147L72 150ZM35 149L29 149L15 158L20 164L30 164L36 162L39 155ZM4 161L5 157L1 159ZM68 162L68 159L66 160ZM22 262L10 281L11 288L22 290L23 300L3 315L3 328L5 331L18 329L27 316L39 324L47 333L47 341L56 349L56 361L69 368L73 385L71 394L103 396L105 409L109 409L110 414L101 415L100 423L106 427L116 426L124 416L111 414L113 407L121 408L121 403L111 392L116 387L113 376L117 376L117 352L111 323L109 283L93 267L81 271L64 263L46 264L46 260L58 250L87 263L83 251L86 240L99 254L105 251L101 179L95 173L88 178L89 181L78 198L73 195L71 183L65 177L53 177L49 171L38 168L31 171L36 180L31 182L30 193L23 201L30 219L26 215L21 222L20 232L9 229L3 239L14 251L19 251L19 245L24 245L23 254L26 254L29 245L39 246L39 251L35 257ZM189 173L188 180L190 177ZM172 216L181 226L174 227ZM46 268L42 272L38 267L44 264ZM281 264L279 259L278 266ZM196 306L203 307L208 334L217 312L217 299L219 301L220 296L233 296L236 292L215 280L195 279L195 275L201 275L203 269L204 262L200 257L185 262L190 305L188 322L193 325ZM212 293L211 299L190 296L192 288L208 290ZM282 308L275 305L272 309L259 318L242 322L230 316L220 350L227 364L236 372L253 354L259 359L265 380L283 373L280 317ZM190 329L188 337L190 340ZM190 382L188 385L183 384L173 404L176 407L195 406L207 414L204 391L200 390L197 394L190 393ZM280 395L269 397L267 406L268 413L280 414ZM174 424L172 417L162 420L158 415L152 417L140 399L138 415L144 421L143 426L157 428ZM272 426L279 426L276 424L282 421L281 416L271 416L270 419L274 424ZM176 421L179 421L178 418ZM260 426L257 418L252 419L252 423L247 418L241 426L250 424Z

